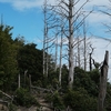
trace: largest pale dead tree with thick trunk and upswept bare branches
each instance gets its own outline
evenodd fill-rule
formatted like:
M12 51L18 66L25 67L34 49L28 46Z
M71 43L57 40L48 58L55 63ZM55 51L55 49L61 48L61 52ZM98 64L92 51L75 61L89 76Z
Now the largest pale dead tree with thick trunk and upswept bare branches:
M63 11L58 13L62 16L65 20L63 23L63 34L68 38L68 58L69 58L69 88L72 89L73 84L73 77L74 77L74 60L73 60L73 49L74 49L74 32L83 24L84 19L92 12L88 12L84 17L82 16L84 11L82 11L82 8L89 2L87 0L83 4L81 4L80 8L75 8L75 6L79 3L80 0L61 0L59 8L61 8ZM83 17L83 18L82 18Z

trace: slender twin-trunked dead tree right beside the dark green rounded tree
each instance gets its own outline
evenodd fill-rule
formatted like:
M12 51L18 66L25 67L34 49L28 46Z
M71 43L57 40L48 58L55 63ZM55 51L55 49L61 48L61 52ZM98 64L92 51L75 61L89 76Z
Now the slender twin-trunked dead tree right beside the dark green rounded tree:
M48 8L48 0L44 0L44 4L43 4L43 14L44 14L44 30L43 30L43 74L46 74L46 77L48 77L48 72L49 72L49 48L52 44L49 44L50 42L52 42L54 39L53 38L49 38L49 30L52 29L53 27L50 24L52 20L52 10ZM53 20L54 21L54 20Z

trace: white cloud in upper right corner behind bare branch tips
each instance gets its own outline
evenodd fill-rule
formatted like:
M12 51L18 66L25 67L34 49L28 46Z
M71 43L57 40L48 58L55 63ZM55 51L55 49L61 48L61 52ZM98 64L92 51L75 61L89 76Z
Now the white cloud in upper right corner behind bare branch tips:
M80 0L78 3L77 8L81 7L81 4L84 3L87 0ZM110 18L108 16L104 16L99 9L103 10L103 6L109 6L110 1L109 0L89 0L89 2L84 6L85 11L91 11L93 9L93 12L88 17L88 21L90 23L100 23L100 22L108 22L110 21Z

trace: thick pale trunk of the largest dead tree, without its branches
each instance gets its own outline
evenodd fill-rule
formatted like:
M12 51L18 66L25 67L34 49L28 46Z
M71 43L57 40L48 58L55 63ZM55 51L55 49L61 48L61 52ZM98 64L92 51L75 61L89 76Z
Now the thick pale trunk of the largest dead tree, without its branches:
M73 0L69 0L69 88L73 85Z

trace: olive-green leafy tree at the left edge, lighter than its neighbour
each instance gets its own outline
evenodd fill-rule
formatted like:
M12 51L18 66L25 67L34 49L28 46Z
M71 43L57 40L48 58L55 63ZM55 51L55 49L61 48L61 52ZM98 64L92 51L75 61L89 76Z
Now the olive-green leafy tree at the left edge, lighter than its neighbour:
M0 88L11 89L18 73L17 51L9 26L0 26Z

